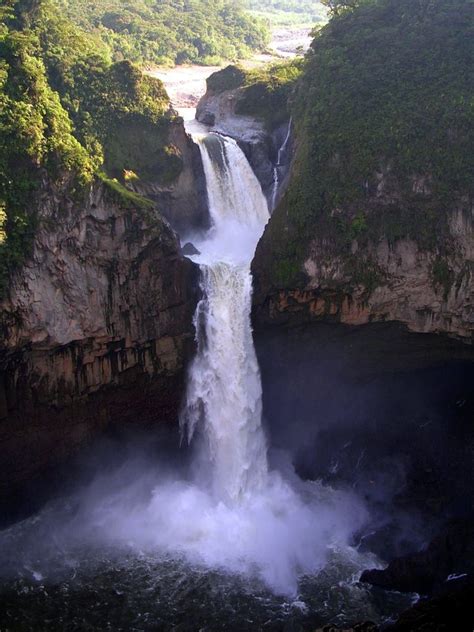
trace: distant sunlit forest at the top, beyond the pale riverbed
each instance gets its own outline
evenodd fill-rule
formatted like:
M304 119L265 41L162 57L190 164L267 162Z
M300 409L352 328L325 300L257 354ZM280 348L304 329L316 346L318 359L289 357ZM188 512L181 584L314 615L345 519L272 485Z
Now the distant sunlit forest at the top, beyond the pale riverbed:
M268 40L234 0L58 0L81 29L137 63L217 64L248 57Z

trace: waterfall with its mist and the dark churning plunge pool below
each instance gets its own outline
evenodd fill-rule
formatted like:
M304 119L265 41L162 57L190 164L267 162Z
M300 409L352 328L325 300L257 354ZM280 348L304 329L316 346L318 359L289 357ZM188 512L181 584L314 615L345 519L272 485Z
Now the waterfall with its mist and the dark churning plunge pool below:
M351 546L363 503L299 480L284 457L269 466L250 324L267 202L235 141L197 140L212 227L193 236L203 296L181 419L192 458L183 446L165 468L135 454L0 534L0 627L310 630L407 605L356 581L377 564Z

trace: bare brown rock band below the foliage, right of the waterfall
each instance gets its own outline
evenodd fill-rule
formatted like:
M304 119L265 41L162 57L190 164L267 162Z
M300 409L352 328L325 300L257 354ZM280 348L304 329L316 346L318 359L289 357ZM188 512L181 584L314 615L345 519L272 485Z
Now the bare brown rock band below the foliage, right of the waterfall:
M283 204L254 260L259 321L326 320L348 325L397 321L414 332L443 333L474 342L471 200L460 201L447 213L442 249L423 247L410 238L392 242L385 235L362 244L352 239L347 250L341 251L337 242L318 235L315 228L302 244L297 281L290 287L281 281L284 262L275 259L272 245L275 231L288 230L286 214Z

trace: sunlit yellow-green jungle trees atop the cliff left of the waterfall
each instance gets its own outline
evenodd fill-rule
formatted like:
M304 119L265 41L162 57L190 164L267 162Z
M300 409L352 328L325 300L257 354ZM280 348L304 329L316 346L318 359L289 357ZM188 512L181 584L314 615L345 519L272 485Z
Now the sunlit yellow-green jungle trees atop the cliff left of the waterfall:
M45 176L69 194L100 170L153 173L181 161L166 145L173 114L159 80L64 18L53 0L6 0L0 8L0 293L35 231ZM117 183L103 176L117 192ZM125 193L125 192L124 192Z

